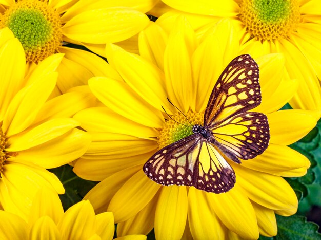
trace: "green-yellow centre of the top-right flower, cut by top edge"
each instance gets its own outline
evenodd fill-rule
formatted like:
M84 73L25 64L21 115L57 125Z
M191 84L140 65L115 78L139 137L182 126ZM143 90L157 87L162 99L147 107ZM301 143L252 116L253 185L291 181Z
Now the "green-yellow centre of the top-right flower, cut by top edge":
M286 38L300 21L299 4L297 0L243 0L239 19L257 40Z

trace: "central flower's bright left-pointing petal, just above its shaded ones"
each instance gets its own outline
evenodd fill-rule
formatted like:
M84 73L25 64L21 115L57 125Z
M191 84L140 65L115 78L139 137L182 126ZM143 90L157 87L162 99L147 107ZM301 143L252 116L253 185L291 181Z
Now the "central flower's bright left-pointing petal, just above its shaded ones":
M157 137L155 128L144 126L119 115L107 107L84 109L73 117L88 132L109 132L127 134L136 137Z

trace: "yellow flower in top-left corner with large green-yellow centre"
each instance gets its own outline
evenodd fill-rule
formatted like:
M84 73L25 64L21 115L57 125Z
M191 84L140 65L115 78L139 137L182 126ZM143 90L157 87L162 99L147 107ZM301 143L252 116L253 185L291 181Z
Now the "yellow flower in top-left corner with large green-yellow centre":
M87 84L93 76L114 77L108 64L88 51L64 47L83 45L105 55L107 42L137 49L135 36L149 22L144 12L158 0L142 1L3 1L0 28L9 27L22 43L26 60L38 63L53 53L65 53L57 71L54 95Z

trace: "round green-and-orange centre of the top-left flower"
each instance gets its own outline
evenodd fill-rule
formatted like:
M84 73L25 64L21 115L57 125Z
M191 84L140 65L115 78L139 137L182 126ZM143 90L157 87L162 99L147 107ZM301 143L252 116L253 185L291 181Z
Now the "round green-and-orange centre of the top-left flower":
M28 62L38 63L55 53L63 40L59 15L43 1L18 1L2 15L0 28L4 27L22 43Z

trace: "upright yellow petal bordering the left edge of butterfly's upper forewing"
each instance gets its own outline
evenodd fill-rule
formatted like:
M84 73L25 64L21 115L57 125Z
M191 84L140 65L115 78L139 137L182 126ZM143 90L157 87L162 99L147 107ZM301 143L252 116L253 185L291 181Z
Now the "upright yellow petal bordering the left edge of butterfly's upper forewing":
M196 99L196 102L192 102L192 108L196 112L205 110L218 77L236 57L239 47L229 21L221 21L210 32L192 56L193 91Z

